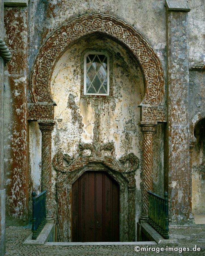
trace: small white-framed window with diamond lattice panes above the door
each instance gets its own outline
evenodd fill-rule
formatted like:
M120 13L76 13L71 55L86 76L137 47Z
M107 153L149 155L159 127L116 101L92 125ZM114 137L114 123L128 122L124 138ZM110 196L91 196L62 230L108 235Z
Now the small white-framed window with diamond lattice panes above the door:
M84 95L109 95L109 56L89 51L84 55Z

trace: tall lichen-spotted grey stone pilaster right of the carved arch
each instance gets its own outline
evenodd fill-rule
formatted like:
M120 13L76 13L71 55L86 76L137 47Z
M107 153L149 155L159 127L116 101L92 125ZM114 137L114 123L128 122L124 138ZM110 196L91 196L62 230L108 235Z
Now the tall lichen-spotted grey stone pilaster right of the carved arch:
M189 212L189 58L185 0L166 0L168 123L165 131L165 191L171 224L183 224Z

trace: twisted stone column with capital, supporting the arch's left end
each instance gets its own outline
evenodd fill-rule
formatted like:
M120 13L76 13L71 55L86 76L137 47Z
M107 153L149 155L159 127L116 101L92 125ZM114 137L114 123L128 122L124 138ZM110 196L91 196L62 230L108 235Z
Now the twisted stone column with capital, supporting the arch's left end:
M54 129L54 120L38 120L41 139L41 192L46 193L46 220L54 220L52 214L52 183L51 183L51 133Z

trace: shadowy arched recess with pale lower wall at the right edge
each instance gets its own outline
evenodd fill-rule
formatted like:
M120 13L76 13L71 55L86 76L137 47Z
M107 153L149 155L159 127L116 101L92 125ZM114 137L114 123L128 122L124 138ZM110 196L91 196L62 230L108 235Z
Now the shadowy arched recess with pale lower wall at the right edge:
M193 214L205 214L205 119L194 129L197 139L192 158L192 209Z

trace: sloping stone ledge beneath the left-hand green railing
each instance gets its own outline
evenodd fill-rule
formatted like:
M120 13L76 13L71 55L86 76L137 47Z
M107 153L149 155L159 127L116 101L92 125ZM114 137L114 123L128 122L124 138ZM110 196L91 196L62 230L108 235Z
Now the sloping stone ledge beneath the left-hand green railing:
M56 224L46 223L36 240L32 240L33 233L31 233L23 242L23 245L44 245L55 234L55 226ZM55 238L53 237L52 240L55 240Z

